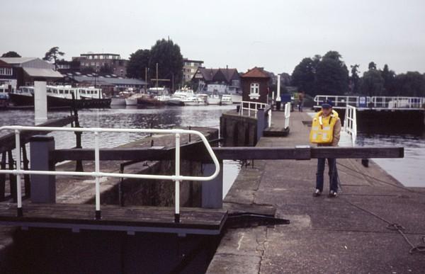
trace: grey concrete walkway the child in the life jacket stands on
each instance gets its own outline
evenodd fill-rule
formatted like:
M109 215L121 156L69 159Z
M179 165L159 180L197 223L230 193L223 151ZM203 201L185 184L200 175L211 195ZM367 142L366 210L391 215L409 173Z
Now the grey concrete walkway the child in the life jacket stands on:
M257 146L308 144L310 128L302 121L310 119L292 113L288 137L263 137ZM283 113L273 113L273 122L283 123ZM401 234L364 210L401 224L412 244L424 244L425 190L402 187L373 161L368 168L359 160L338 163L342 191L335 199L312 197L317 160L243 168L225 206L271 205L290 224L228 229L207 273L424 273L425 253L409 254Z

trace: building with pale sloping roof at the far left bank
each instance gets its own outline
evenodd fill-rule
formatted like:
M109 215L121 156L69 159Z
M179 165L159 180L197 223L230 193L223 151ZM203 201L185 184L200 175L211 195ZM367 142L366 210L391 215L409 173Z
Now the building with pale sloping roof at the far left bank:
M53 64L36 57L0 57L1 66L8 75L0 75L0 81L8 82L12 89L19 86L33 86L34 81L47 81L47 84L62 78Z

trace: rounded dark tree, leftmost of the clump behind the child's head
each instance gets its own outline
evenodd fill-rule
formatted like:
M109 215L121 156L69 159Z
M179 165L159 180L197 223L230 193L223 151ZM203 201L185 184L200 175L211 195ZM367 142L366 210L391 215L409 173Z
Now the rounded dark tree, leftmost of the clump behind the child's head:
M315 95L314 92L314 73L316 72L316 62L311 58L304 58L300 64L295 67L291 84L297 86L298 90L305 91L311 96Z

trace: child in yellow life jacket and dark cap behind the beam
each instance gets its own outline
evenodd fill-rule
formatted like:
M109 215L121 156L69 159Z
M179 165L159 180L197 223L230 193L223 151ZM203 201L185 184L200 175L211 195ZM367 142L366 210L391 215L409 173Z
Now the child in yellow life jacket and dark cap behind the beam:
M317 147L338 147L341 133L341 120L338 113L332 109L332 101L322 103L322 110L314 115L312 130L310 131L310 142ZM329 166L329 198L335 198L338 193L338 171L336 159L328 158ZM313 196L318 197L323 192L323 173L325 159L317 159L316 190Z

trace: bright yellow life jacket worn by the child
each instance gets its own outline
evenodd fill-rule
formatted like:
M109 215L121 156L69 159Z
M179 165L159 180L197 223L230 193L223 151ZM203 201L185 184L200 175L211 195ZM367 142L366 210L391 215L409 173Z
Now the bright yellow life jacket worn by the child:
M334 138L334 125L338 120L338 113L332 110L327 117L323 117L320 110L313 118L310 142L313 144L331 144Z

